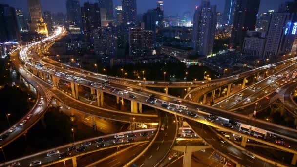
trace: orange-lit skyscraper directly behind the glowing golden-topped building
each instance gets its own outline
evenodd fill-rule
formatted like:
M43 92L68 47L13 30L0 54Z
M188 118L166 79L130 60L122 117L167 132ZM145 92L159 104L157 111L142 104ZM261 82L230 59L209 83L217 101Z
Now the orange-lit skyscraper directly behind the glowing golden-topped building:
M29 31L35 33L38 31L37 23L42 18L42 11L39 0L28 0L28 7L31 16Z

